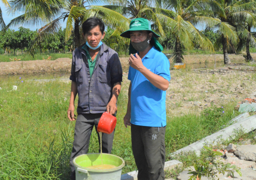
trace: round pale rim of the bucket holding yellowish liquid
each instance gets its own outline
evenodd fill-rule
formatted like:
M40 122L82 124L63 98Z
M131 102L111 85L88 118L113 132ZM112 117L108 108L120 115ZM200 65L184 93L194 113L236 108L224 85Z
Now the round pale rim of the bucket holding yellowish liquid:
M88 153L88 154L101 154L101 153ZM88 154L81 154L81 155L79 155L79 156L84 156L84 155L88 155ZM108 154L108 153L102 153L102 154ZM114 154L108 154L108 155L116 156L116 155L114 155ZM76 156L76 157L73 159L74 165L75 165L76 167L78 167L78 168L85 169L85 170L91 171L91 172L110 172L110 171L116 171L116 170L118 170L118 169L123 168L123 166L125 166L125 161L123 160L123 158L122 158L122 157L119 157L119 156L116 156L116 157L118 157L119 159L122 160L122 164L121 164L120 166L117 166L116 168L111 168L111 169L90 169L90 168L85 168L85 167L83 167L83 166L78 165L78 164L75 162L76 158L78 158L79 156Z

